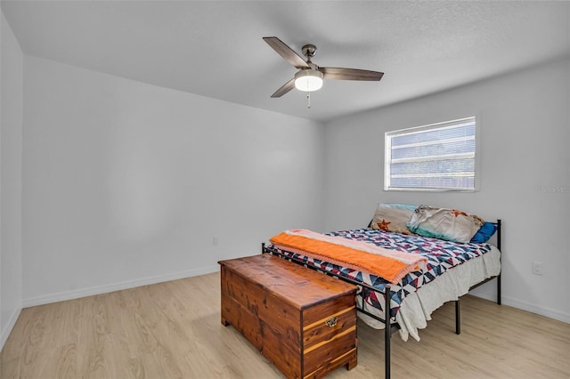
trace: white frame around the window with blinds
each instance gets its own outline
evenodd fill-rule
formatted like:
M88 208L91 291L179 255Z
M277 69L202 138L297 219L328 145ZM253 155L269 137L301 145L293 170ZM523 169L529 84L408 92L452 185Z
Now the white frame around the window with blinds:
M473 188L436 188L436 187L395 187L390 184L390 165L392 145L391 139L395 136L404 135L406 133L419 133L429 130L443 129L445 127L452 127L453 125L460 125L465 122L472 121L475 125L475 157L474 160L474 186ZM479 190L480 181L480 117L471 116L454 119L451 121L443 121L434 124L414 126L410 128L398 129L384 134L384 190L385 191L416 191L416 192L476 192Z

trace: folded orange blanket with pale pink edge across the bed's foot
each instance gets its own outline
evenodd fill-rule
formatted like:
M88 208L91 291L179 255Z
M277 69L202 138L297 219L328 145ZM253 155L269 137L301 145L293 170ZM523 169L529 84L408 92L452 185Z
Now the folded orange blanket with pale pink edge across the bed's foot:
M274 246L295 250L353 270L370 272L397 284L428 259L419 254L398 252L347 238L325 236L310 230L287 230L269 239ZM362 245L363 244L363 245Z

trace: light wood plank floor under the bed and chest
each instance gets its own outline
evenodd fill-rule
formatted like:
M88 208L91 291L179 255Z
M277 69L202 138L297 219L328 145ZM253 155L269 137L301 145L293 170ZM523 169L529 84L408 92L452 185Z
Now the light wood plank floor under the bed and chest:
M8 378L281 378L220 322L219 273L28 308L0 355ZM466 296L421 341L392 337L394 378L568 378L570 325ZM381 331L358 324L358 366L330 378L382 377Z

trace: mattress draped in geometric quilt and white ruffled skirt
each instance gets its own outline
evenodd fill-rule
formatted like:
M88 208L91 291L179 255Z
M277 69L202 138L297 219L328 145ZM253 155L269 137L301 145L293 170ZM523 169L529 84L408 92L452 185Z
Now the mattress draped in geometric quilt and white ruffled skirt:
M390 299L391 322L399 325L400 336L404 341L407 341L410 335L419 341L419 329L427 326L434 310L444 302L457 300L461 295L467 294L471 286L481 283L486 278L493 278L501 272L501 252L490 244L458 244L437 238L370 229L325 234L428 257L428 266L424 270L411 272L398 284L390 285L393 291ZM270 250L272 247L269 246ZM384 319L384 291L389 284L387 280L365 271L325 262L298 251L289 252L279 248L273 250L276 254L302 262L317 270L327 271L366 285L359 286L357 296L359 307L379 319ZM362 312L359 312L359 317L371 327L385 327L383 322Z

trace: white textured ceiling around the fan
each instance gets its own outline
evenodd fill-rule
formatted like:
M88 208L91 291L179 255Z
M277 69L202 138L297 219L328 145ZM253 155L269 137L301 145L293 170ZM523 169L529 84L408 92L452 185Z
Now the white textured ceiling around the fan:
M570 54L567 2L2 1L22 50L118 77L329 120ZM262 40L321 66L385 72L270 95L295 69Z

